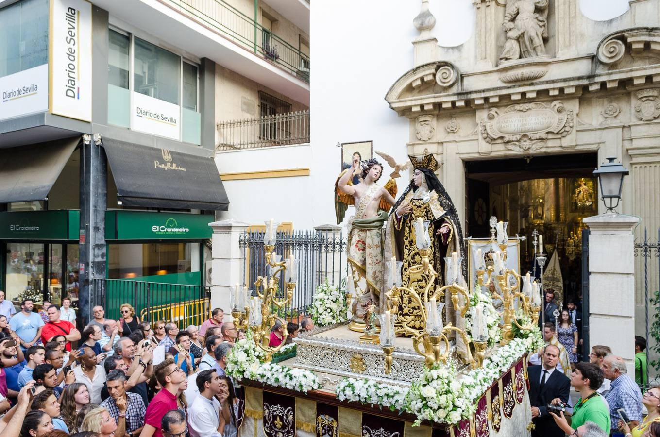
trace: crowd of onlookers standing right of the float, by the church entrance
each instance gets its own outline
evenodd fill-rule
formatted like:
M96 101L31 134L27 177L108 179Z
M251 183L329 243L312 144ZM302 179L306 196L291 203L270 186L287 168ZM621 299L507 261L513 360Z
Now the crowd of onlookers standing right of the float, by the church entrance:
M532 436L660 437L660 387L647 385L644 337L634 339L632 378L607 345L591 347L580 360L582 316L575 301L560 311L548 291L542 313L545 347L529 356L528 368Z

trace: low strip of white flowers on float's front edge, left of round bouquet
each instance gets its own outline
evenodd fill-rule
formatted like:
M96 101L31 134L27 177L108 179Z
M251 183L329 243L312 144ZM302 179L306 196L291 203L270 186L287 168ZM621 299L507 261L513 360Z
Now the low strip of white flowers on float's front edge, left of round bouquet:
M337 399L340 401L358 401L368 405L380 405L391 411L404 410L407 387L381 384L374 380L356 380L344 378L337 385Z

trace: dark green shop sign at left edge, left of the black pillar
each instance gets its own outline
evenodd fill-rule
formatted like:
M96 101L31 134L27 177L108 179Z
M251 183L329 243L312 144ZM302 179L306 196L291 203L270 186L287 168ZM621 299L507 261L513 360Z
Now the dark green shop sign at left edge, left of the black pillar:
M0 240L77 241L80 211L12 211L0 213Z

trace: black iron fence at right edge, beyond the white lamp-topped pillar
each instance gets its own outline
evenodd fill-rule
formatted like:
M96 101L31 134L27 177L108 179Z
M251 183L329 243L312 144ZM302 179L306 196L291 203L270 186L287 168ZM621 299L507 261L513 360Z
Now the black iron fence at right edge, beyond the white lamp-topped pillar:
M635 256L643 258L644 269L644 302L645 302L645 340L646 340L646 353L649 356L651 351L660 353L660 345L657 343L657 338L660 336L660 319L657 314L660 314L660 307L656 308L655 321L649 325L649 306L655 303L660 305L660 294L658 292L658 279L660 277L660 228L657 230L657 240L649 240L648 230L644 228L644 241L635 242ZM657 269L655 272L653 269ZM640 272L637 272L638 274ZM649 296L651 294L651 296ZM653 347L651 347L653 343ZM648 358L647 358L648 359ZM645 378L649 381L649 366L658 368L660 360L651 361L646 366ZM654 372L656 373L656 372ZM636 372L637 376L637 372Z

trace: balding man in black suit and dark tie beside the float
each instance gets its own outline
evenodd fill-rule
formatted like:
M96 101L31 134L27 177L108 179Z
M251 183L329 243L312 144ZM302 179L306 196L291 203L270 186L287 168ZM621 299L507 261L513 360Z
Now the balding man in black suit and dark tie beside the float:
M532 422L535 424L532 437L564 437L564 431L557 426L546 408L546 405L557 397L566 403L570 395L571 380L556 369L558 359L559 348L547 345L543 351L541 365L530 366L527 370L529 403Z

